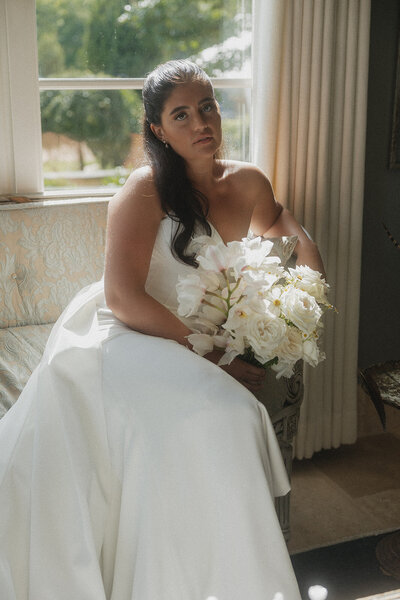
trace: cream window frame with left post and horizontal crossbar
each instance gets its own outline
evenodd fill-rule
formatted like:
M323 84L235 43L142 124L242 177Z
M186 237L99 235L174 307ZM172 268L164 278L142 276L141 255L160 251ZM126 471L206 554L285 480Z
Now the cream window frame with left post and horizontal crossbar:
M43 187L41 91L138 90L143 82L140 78L39 78L35 0L0 0L0 194L61 195L46 194ZM212 82L216 89L252 87L250 78L213 78ZM93 195L88 188L73 194L65 190L62 195L83 192Z

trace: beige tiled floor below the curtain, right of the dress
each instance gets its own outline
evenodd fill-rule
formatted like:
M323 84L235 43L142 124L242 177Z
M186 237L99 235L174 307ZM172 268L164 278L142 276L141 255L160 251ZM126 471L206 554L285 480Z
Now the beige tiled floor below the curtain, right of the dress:
M294 461L291 554L400 528L400 411L386 417L383 432L361 396L355 445Z

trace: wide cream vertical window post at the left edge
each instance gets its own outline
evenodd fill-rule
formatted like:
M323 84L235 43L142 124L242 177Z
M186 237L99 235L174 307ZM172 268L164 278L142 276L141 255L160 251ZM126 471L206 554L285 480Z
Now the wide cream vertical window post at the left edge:
M34 0L2 0L0 26L1 191L43 191L40 96ZM23 18L21 16L23 15Z

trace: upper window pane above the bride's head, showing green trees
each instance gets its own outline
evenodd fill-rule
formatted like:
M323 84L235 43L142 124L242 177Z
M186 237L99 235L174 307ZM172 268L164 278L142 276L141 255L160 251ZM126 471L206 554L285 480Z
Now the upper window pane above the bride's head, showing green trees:
M251 0L36 0L41 77L145 77L192 58L250 76Z

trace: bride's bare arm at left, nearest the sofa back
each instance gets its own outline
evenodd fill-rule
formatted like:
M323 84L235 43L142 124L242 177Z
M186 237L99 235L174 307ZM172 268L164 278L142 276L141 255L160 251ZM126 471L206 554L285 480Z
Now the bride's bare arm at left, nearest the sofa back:
M146 293L151 255L163 211L149 169L132 173L108 211L104 289L107 306L123 323L188 345L191 330Z

